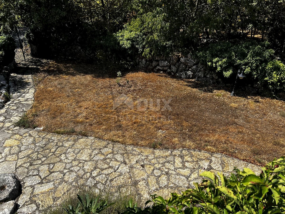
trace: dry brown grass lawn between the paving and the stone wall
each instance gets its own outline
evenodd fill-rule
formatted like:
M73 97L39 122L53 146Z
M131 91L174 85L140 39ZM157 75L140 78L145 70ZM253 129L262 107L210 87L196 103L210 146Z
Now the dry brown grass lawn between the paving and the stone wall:
M113 73L52 62L35 75L28 113L47 132L74 130L123 144L221 152L259 164L285 154L284 101L203 92L192 80L140 71L126 73L117 84ZM134 109L124 104L113 109L121 94L135 101ZM159 111L139 111L139 98L154 100L154 107L156 99L172 99L172 110L162 111L161 101Z

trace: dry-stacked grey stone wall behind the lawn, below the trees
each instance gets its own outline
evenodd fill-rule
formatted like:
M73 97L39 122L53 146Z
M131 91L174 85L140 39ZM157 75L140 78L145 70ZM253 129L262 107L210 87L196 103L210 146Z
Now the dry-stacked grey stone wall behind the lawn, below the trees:
M137 65L139 68L145 68L154 72L166 72L173 76L183 79L196 79L201 82L220 82L217 74L211 73L209 68L198 59L188 54L187 57L163 57L146 59L142 56L137 57Z

